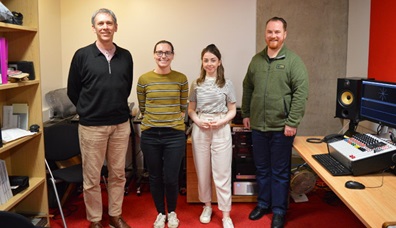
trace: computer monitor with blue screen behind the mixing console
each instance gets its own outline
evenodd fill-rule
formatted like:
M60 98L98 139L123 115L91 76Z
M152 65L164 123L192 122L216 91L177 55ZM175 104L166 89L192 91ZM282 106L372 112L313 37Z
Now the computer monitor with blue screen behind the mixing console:
M396 83L362 80L360 120L396 128Z

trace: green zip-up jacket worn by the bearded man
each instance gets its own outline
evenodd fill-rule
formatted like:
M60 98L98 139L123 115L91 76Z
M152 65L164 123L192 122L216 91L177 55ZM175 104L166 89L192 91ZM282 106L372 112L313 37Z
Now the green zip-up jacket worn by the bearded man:
M250 118L251 129L258 131L297 128L308 99L307 69L285 45L273 59L267 48L252 58L243 80L242 117Z

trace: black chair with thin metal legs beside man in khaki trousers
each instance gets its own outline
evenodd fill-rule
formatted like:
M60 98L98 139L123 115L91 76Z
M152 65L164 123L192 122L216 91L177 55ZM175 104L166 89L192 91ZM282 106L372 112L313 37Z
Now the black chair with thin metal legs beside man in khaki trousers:
M49 179L54 188L59 212L64 227L67 227L59 199L56 183L64 181L73 188L75 184L83 182L82 165L75 164L65 168L51 169L49 162L65 161L81 154L78 139L78 124L61 122L44 128L45 164L49 173ZM69 188L68 187L68 188ZM70 189L69 189L70 191ZM68 192L68 191L67 191ZM67 194L64 195L67 197Z

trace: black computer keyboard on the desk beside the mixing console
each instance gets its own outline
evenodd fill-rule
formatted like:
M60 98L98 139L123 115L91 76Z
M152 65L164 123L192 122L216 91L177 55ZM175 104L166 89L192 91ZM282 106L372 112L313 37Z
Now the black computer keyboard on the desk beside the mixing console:
M327 171L333 176L348 176L352 175L352 172L346 168L343 164L333 158L330 154L314 154L312 155L316 161L319 162Z

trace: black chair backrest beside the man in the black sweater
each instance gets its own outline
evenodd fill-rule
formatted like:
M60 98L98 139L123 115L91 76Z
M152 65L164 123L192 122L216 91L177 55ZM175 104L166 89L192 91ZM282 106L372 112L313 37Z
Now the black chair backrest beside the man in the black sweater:
M44 127L44 146L48 161L63 161L79 155L78 124L65 121Z

